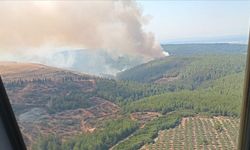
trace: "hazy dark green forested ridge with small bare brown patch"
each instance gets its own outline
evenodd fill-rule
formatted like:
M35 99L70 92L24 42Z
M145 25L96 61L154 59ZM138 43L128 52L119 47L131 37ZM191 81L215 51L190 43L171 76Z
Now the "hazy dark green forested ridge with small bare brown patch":
M195 89L205 81L242 72L245 60L244 54L170 56L123 71L117 75L117 79L170 84L174 89Z

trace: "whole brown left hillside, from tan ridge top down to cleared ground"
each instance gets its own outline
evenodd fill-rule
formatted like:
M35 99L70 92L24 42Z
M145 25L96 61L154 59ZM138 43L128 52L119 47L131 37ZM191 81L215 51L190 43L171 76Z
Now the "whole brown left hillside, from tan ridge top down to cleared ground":
M53 109L53 97L60 99L71 95L71 92L93 93L96 77L16 62L0 62L0 75L29 148L40 135L54 134L67 139L93 132L101 122L119 116L120 108L116 104L95 95L77 99L86 101L89 107L49 111L50 107Z

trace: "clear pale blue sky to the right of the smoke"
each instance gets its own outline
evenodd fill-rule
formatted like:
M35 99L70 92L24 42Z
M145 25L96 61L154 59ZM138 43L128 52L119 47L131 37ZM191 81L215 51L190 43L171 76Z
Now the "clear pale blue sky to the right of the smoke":
M151 20L146 26L161 42L247 39L250 1L138 1Z

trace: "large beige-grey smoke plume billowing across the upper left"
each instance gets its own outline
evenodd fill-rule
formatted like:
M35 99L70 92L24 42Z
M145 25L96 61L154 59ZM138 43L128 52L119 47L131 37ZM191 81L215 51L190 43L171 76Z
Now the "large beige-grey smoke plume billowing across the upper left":
M0 52L101 48L162 57L154 35L143 30L147 18L133 1L5 1L0 2L0 21Z

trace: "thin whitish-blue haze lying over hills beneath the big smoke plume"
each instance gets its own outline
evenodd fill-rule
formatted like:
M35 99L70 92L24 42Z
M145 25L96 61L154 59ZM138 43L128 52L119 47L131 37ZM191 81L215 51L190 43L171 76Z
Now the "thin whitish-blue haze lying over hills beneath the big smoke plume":
M145 62L145 58L131 55L113 55L102 50L65 50L46 55L27 55L14 57L17 62L34 62L57 68L93 74L96 76L115 76L128 68Z

